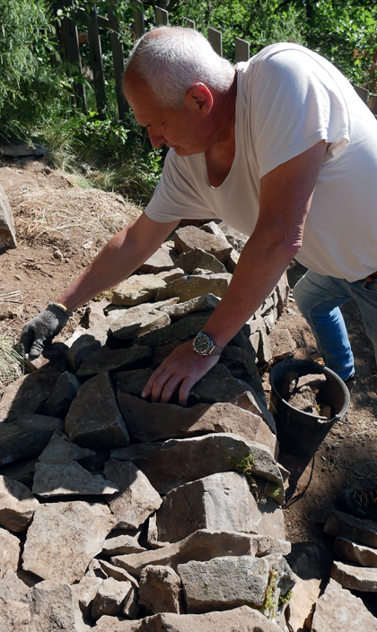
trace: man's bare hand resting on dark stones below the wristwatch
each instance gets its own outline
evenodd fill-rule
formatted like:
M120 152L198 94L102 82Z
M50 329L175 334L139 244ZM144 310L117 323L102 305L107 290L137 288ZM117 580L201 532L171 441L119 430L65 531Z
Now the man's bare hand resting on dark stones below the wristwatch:
M198 356L192 342L183 342L156 368L145 385L142 397L151 395L152 402L168 403L180 385L179 403L186 406L189 392L199 379L215 367L220 356Z

